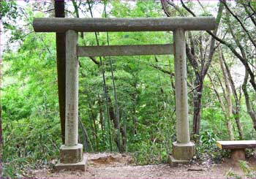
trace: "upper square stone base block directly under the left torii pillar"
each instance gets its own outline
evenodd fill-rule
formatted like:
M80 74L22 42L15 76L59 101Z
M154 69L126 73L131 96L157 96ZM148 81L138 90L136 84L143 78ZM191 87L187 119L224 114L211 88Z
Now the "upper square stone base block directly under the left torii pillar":
M83 145L61 145L61 164L76 164L83 160Z

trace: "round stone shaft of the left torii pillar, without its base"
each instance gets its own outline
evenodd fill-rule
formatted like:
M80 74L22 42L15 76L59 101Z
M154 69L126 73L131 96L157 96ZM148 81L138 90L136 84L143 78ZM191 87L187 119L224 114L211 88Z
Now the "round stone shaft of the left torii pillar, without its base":
M78 32L66 32L66 123L65 146L78 145Z

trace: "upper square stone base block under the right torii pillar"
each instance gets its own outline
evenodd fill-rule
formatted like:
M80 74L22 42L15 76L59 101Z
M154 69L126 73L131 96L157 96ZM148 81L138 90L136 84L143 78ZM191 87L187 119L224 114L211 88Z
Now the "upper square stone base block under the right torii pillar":
M190 160L195 155L195 144L193 142L173 142L173 158L176 160Z

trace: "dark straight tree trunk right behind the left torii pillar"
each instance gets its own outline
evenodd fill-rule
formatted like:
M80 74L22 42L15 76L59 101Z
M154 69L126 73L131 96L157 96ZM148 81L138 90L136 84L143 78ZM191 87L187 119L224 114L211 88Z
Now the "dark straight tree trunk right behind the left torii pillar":
M64 0L55 0L55 17L65 18ZM61 137L65 141L65 107L66 107L66 39L65 33L56 33L56 58L59 90L59 116L61 119Z

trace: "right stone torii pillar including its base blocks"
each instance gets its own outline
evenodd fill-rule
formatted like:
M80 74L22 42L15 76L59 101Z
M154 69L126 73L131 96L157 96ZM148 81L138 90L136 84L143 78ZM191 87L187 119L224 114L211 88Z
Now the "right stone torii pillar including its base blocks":
M189 137L189 118L187 102L187 63L186 39L184 29L173 31L175 90L176 90L176 137L170 165L187 164L195 154L195 144Z

